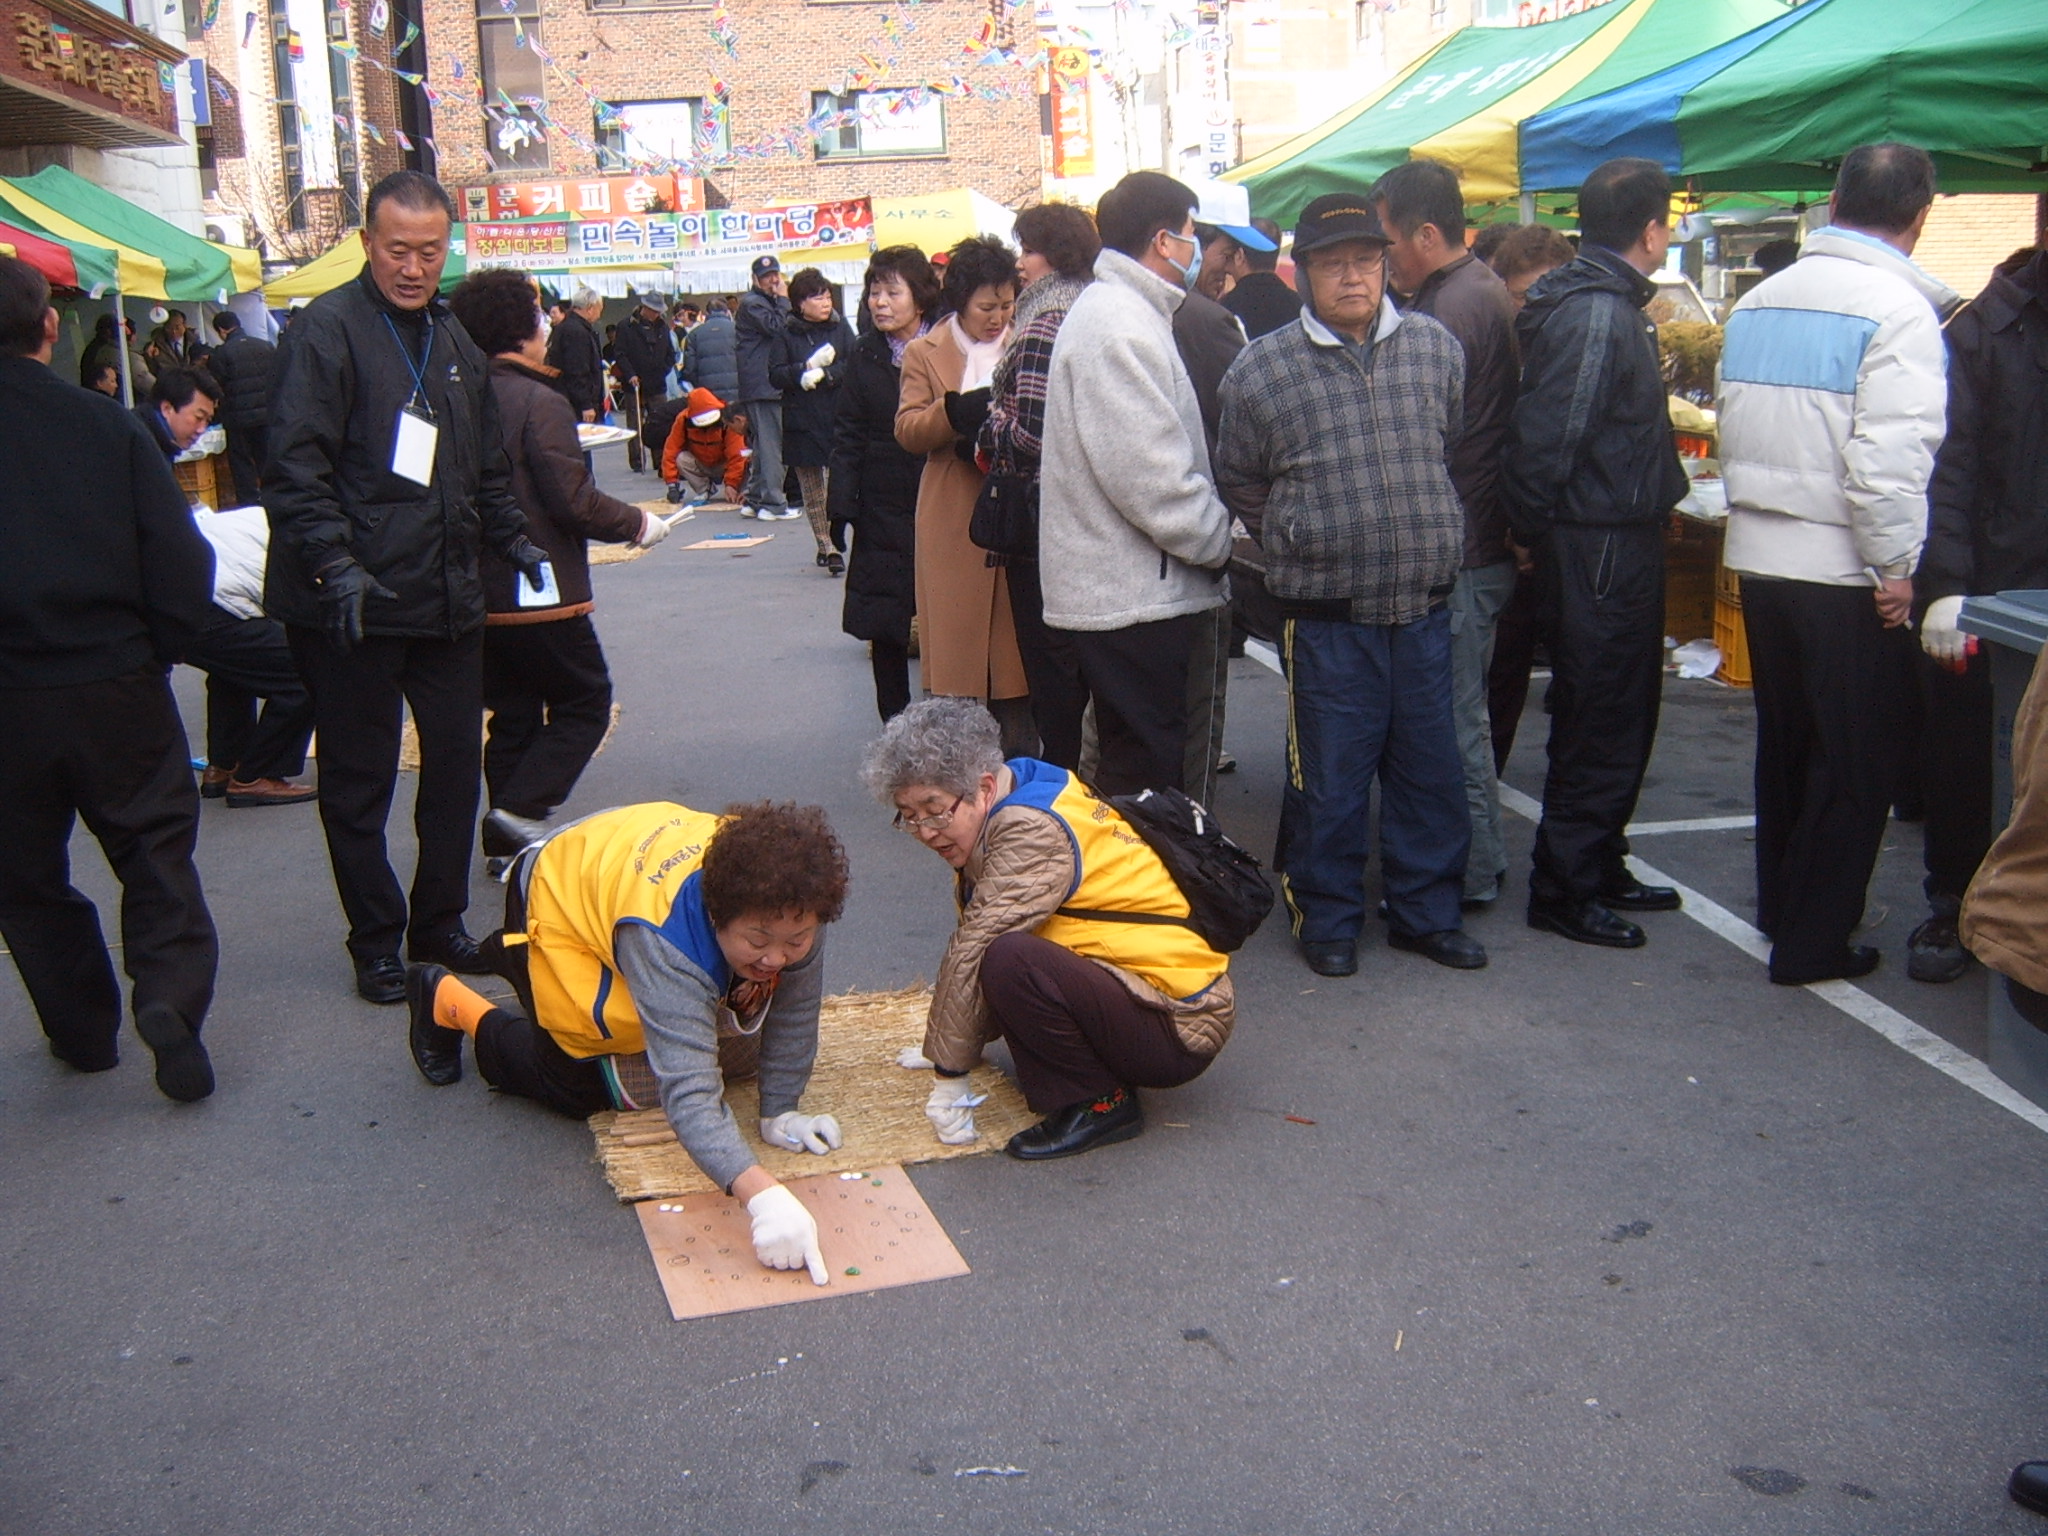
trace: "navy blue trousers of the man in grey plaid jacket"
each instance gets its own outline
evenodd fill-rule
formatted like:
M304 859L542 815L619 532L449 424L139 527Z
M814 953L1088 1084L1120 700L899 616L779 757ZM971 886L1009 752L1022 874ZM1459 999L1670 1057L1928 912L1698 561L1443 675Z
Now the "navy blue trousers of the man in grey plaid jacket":
M1399 934L1458 928L1473 825L1450 717L1450 612L1409 625L1290 618L1288 782L1280 889L1303 942L1366 922L1372 780L1380 877Z

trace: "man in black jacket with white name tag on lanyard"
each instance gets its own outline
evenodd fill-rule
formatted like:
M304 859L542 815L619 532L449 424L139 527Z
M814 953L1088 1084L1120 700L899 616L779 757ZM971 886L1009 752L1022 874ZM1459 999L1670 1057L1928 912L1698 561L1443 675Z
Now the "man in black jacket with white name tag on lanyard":
M319 819L373 1004L406 999L399 938L414 961L487 969L463 930L483 768L479 551L537 592L547 578L485 358L436 297L453 215L414 170L371 188L360 276L301 309L279 346L264 467L264 610L313 690ZM385 854L403 705L420 733L410 911Z

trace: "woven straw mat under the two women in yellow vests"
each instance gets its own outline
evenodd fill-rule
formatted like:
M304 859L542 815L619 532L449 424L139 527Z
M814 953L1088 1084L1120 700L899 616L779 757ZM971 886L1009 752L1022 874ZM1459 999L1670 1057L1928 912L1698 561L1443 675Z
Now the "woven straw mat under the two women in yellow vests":
M760 1090L735 1083L725 1090L733 1118L776 1178L842 1174L879 1163L924 1163L936 1157L971 1157L1001 1147L1038 1116L1024 1106L1024 1094L995 1067L977 1067L973 1092L989 1102L975 1110L981 1139L967 1147L946 1147L924 1118L930 1073L903 1071L897 1053L924 1040L924 1016L932 1006L930 987L901 991L848 991L827 997L817 1018L817 1067L803 1096L805 1110L840 1120L846 1145L836 1153L764 1147ZM670 1133L662 1110L631 1110L590 1116L604 1178L621 1200L657 1200L715 1188Z

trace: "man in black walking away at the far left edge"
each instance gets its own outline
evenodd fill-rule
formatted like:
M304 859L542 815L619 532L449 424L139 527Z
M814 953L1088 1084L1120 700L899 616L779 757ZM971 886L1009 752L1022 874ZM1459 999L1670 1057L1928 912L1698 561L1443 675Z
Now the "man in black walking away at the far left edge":
M49 371L55 342L49 285L0 258L0 938L51 1055L113 1067L121 987L70 874L84 817L121 879L135 1032L158 1087L197 1100L219 942L166 674L207 623L213 553L141 424Z

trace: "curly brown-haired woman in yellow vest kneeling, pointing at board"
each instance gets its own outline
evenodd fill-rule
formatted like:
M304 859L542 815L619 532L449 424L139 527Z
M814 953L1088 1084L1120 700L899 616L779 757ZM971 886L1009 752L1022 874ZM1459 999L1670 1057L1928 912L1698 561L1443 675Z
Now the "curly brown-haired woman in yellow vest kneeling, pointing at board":
M801 1114L817 1059L823 926L846 905L846 852L813 805L627 805L573 821L514 862L506 926L483 942L526 1006L494 1006L438 965L406 973L412 1059L561 1114L659 1104L705 1174L748 1202L754 1253L825 1284L817 1225L754 1157L723 1087L760 1075L762 1141L825 1153Z

